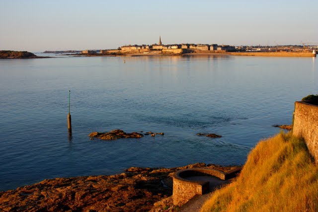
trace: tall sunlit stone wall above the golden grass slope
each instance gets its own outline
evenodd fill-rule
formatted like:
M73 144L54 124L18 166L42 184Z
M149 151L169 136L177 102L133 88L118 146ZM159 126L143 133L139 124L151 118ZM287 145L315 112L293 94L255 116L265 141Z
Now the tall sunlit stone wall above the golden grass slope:
M318 106L295 102L293 135L304 138L318 164Z

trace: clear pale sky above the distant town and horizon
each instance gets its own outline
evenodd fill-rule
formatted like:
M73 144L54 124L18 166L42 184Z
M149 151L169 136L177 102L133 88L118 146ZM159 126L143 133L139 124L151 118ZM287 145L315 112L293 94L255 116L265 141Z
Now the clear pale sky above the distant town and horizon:
M1 0L0 50L318 45L318 0Z

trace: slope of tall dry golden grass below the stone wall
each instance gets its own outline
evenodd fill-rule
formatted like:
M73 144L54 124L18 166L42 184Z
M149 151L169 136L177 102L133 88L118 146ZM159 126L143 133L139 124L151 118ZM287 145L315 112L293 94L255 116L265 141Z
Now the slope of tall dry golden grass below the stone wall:
M237 180L218 190L201 212L317 212L318 166L305 142L283 132L260 141Z

